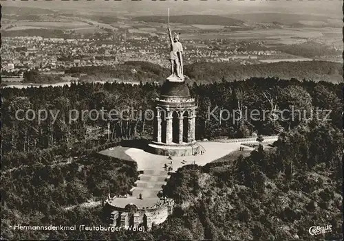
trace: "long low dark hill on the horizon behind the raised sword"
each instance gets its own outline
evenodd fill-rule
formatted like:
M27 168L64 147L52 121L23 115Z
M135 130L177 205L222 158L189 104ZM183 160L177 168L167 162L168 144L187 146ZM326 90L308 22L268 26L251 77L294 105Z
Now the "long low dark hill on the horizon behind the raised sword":
M138 16L132 19L133 21L167 23L166 16ZM184 23L187 25L228 25L228 26L241 26L244 21L232 19L225 16L216 15L180 15L170 16L171 23Z

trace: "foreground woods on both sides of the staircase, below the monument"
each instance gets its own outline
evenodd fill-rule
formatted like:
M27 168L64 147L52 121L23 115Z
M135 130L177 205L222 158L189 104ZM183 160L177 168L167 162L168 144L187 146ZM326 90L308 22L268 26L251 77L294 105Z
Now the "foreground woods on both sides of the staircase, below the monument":
M79 168L32 166L1 176L1 230L11 239L310 240L308 229L320 223L332 232L312 240L341 240L343 144L338 128L310 122L282 133L274 152L260 147L234 162L186 165L164 187L180 205L151 232L12 231L12 223L106 226L101 205L65 207L107 192L110 184L125 190L136 174L119 160L93 157L80 160Z

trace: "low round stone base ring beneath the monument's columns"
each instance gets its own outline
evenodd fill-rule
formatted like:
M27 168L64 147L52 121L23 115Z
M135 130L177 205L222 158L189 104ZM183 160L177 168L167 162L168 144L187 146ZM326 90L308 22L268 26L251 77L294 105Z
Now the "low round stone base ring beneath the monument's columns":
M186 157L200 154L201 151L200 145L198 145L197 142L194 142L192 144L174 145L157 144L152 142L148 145L147 152L167 157Z

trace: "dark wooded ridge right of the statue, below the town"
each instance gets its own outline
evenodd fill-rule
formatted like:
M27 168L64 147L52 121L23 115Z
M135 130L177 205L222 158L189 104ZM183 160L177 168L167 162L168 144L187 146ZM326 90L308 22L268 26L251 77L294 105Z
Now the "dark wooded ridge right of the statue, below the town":
M202 82L215 82L222 79L234 81L252 77L343 82L342 66L341 63L326 61L275 62L260 65L195 62L184 67L184 74L192 80Z

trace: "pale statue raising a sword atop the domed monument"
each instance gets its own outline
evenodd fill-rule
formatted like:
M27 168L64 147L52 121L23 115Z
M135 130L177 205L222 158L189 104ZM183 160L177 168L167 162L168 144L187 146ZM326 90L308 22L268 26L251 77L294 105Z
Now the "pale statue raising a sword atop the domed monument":
M171 51L169 60L171 62L171 76L167 78L168 80L184 81L183 74L183 56L182 56L182 43L180 43L180 33L174 33L173 37L171 34L171 29L168 25L167 30L169 30L169 39L171 45Z

